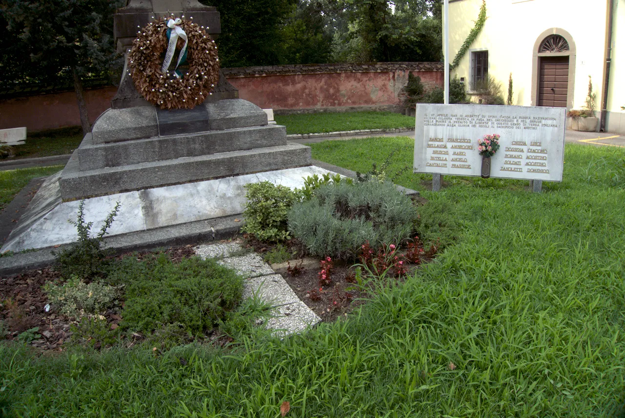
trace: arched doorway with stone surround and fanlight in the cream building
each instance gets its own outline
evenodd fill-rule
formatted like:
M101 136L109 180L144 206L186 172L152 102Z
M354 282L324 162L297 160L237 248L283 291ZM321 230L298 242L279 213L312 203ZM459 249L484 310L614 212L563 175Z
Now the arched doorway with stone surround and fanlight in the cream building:
M532 105L573 105L575 44L569 32L554 27L536 39L532 60Z

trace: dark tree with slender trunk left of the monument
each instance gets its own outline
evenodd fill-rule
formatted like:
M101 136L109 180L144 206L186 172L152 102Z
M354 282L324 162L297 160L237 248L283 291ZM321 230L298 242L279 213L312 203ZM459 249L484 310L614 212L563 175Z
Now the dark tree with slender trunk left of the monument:
M108 72L116 62L113 14L124 1L2 0L0 5L6 29L17 34L14 68L22 74L35 69L48 82L71 80L83 132L89 132L83 79Z

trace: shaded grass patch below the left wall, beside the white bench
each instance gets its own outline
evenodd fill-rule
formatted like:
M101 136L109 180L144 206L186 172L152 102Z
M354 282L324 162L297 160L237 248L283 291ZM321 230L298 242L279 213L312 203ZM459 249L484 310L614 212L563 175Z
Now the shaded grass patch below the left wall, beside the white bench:
M81 127L43 130L27 134L24 145L16 145L15 158L71 154L83 140Z

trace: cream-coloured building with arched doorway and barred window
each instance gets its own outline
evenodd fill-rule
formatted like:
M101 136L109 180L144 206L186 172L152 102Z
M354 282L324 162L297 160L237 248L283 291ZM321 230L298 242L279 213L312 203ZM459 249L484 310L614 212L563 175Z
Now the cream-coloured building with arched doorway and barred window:
M450 62L481 5L449 0ZM487 0L486 16L451 73L464 80L472 100L472 85L486 73L502 83L507 97L512 73L515 105L582 109L590 75L602 117L597 129L602 120L607 132L625 133L625 0Z

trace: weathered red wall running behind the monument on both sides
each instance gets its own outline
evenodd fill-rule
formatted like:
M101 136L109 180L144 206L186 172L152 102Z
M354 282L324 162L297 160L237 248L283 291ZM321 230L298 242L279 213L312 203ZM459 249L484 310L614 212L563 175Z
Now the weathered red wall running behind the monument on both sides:
M263 109L315 109L342 106L396 105L408 74L429 87L443 84L441 62L375 64L308 64L222 69L239 97ZM85 90L93 123L111 107L117 87ZM25 126L29 131L80 125L76 94L61 92L0 100L0 129Z

